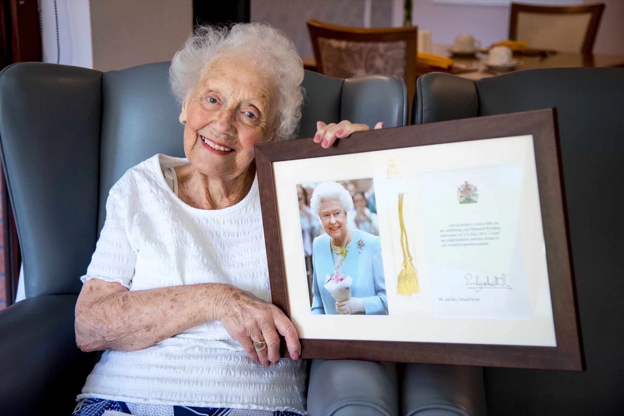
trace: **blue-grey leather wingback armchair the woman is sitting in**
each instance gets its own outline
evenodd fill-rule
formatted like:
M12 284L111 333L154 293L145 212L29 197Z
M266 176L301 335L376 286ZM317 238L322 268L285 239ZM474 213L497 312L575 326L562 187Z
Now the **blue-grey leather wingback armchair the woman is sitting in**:
M69 414L99 358L76 347L79 277L104 223L110 187L127 169L155 153L183 156L180 108L170 94L168 67L162 62L102 73L31 62L0 72L0 155L26 288L26 300L0 311L3 414L41 414L42 409L51 411L51 405L59 414ZM317 120L348 119L371 127L377 121L385 126L407 123L406 87L398 78L343 80L306 71L303 87L300 136L312 136ZM388 389L381 404L367 401L370 386L340 389L340 380L332 376L336 366L343 374L373 372L385 377ZM482 371L439 369L407 366L405 373L416 372L418 377L411 377L403 389L420 395L409 395L406 414L483 415ZM398 384L396 375L381 364L316 361L310 380L311 415L399 413L396 404L383 403L384 397L396 402ZM420 384L426 385L421 389ZM328 388L338 395L329 397Z

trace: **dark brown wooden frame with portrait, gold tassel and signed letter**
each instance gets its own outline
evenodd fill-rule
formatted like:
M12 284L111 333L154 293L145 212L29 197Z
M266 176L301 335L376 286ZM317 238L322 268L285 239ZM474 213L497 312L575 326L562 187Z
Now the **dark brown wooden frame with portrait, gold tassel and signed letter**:
M301 356L582 371L555 120L256 146L271 296Z

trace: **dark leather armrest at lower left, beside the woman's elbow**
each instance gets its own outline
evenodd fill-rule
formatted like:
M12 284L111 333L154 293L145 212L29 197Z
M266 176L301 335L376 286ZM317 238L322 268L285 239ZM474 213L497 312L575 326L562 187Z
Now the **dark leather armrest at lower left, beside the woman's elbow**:
M77 297L35 296L0 311L3 414L39 414L42 409L51 410L51 404L59 405L58 412L71 413L94 365L94 354L76 346Z

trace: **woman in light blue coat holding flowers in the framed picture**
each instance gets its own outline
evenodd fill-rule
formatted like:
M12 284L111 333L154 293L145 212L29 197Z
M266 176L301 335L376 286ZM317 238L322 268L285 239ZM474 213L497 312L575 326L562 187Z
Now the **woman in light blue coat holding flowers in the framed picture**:
M349 191L337 182L323 182L314 189L310 207L327 233L316 237L312 248L312 313L388 314L379 237L347 224L347 212L353 208ZM351 296L334 298L326 283L349 276Z

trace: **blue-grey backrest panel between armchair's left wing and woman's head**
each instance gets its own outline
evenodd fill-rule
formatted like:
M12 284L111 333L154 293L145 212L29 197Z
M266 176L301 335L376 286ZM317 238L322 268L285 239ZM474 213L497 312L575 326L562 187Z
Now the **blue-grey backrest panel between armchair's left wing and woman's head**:
M158 62L102 75L98 234L109 190L125 171L157 153L184 157L182 106L169 88L168 70L169 62Z

